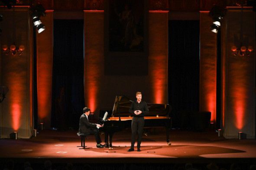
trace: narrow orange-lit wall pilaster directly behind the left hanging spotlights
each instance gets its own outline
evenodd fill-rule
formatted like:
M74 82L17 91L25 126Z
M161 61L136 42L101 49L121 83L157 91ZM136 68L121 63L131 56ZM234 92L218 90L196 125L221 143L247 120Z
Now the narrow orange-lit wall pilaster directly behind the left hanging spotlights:
M53 11L46 11L40 18L45 30L37 34L37 103L38 123L51 127L52 110L52 62L53 62Z

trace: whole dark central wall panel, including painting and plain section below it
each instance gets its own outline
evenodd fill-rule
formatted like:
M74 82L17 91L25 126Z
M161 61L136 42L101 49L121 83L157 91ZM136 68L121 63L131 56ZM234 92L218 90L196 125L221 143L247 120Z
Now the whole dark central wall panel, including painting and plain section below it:
M104 46L105 75L147 75L148 0L104 1Z

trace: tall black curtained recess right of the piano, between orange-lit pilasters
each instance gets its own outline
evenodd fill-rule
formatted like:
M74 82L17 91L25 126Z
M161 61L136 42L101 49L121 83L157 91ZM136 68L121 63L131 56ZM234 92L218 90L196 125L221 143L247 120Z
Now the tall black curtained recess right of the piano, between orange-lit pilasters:
M199 21L169 21L169 104L172 126L191 126L199 110Z

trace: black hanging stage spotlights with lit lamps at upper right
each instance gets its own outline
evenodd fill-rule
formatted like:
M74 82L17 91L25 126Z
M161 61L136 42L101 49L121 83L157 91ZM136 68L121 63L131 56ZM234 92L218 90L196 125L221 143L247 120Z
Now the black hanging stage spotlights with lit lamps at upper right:
M211 8L211 10L209 12L209 16L211 16L213 19L213 22L211 25L212 32L218 33L218 30L220 29L220 25L221 25L221 19L223 19L224 15L225 15L224 8L217 6L217 5L214 5Z

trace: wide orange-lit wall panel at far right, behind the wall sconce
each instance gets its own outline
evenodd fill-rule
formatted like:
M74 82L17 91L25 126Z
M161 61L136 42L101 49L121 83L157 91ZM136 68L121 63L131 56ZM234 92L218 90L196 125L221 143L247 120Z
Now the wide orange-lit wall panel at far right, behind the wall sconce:
M231 52L241 42L255 49L255 13L251 8L244 8L243 13L241 8L229 8L225 20L224 136L238 138L238 132L243 132L255 138L255 51L250 57L234 57Z

